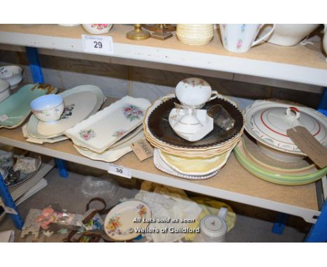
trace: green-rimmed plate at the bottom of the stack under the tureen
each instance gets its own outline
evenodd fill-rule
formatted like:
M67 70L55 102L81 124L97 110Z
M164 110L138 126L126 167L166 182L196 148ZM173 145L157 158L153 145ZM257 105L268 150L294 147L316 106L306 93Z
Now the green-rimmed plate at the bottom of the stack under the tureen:
M310 168L304 170L293 169L293 173L280 171L271 171L264 166L259 166L256 161L253 161L249 157L249 152L246 149L244 138L234 148L234 154L238 162L247 170L258 178L261 178L267 182L272 182L277 185L307 185L323 178L327 174L327 167L318 170L313 164Z

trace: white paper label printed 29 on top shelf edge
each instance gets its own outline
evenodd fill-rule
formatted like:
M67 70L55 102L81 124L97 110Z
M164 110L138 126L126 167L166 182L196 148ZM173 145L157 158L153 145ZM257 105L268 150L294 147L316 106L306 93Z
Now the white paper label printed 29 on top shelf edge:
M113 42L111 36L89 36L82 34L85 52L113 55Z

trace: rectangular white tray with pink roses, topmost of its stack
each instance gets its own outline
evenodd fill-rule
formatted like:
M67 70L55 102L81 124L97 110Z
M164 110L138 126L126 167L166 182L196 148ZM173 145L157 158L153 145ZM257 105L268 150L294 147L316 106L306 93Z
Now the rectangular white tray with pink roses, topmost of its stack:
M124 96L65 134L75 145L102 153L142 124L145 110L150 105L147 99Z

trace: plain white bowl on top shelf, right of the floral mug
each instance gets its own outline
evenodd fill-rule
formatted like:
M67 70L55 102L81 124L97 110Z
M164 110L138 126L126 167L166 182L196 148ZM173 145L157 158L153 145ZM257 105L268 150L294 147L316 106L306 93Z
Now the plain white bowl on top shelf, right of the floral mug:
M268 38L268 43L291 46L317 29L319 24L275 24L274 33Z

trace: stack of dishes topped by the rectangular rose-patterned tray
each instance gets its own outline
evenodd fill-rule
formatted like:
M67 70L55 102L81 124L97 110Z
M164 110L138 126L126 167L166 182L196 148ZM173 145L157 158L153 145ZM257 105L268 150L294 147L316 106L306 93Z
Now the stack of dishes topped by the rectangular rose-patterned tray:
M119 101L65 131L78 152L90 159L112 162L131 152L142 139L142 121L151 105L147 99L124 96Z

